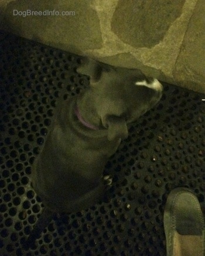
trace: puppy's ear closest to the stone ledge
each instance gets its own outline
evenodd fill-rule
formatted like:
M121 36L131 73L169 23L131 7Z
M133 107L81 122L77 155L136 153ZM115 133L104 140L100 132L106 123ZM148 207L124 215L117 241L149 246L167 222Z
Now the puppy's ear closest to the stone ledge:
M77 72L90 76L90 80L95 83L100 80L102 74L102 65L93 59L84 57L81 66L77 68Z

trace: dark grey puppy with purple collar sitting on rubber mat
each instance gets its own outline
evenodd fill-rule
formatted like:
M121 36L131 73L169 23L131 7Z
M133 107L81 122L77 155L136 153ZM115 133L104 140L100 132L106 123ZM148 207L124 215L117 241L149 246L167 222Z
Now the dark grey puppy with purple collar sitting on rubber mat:
M162 84L136 69L84 58L77 72L90 76L90 86L59 103L32 168L47 213L77 212L102 199L111 185L104 166L128 137L127 125L162 96Z

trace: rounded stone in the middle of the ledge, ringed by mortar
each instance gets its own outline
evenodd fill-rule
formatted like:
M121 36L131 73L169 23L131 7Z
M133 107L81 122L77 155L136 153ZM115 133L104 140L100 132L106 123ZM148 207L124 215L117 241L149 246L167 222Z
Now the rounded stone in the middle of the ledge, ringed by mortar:
M151 48L160 43L182 13L185 0L119 0L111 28L122 42ZM169 12L168 12L169 9Z

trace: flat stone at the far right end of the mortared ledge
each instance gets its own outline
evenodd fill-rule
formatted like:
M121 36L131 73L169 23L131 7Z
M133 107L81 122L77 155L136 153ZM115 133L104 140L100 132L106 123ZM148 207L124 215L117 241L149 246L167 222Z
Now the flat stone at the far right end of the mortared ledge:
M197 2L177 57L175 80L182 87L205 93L205 5Z

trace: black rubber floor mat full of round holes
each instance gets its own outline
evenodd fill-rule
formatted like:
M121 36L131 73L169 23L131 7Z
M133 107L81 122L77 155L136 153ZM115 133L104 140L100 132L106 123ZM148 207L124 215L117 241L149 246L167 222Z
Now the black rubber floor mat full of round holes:
M43 206L30 166L45 142L56 100L79 93L89 78L80 57L1 34L0 255L166 255L163 210L169 192L190 187L205 213L205 95L163 84L159 104L129 128L110 159L110 199L57 215L23 249Z

